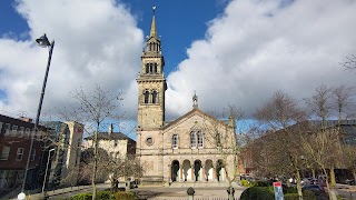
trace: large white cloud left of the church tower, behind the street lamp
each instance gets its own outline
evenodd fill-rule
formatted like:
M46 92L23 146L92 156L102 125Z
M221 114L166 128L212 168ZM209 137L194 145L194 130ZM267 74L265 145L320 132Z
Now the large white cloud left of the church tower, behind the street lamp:
M6 92L1 111L34 116L48 58L48 50L34 39L44 32L56 44L42 113L71 103L69 92L80 88L90 92L98 84L112 92L130 90L140 68L144 33L122 4L111 0L19 0L16 9L30 32L24 41L0 39L0 89ZM137 100L129 100L125 104L132 110Z

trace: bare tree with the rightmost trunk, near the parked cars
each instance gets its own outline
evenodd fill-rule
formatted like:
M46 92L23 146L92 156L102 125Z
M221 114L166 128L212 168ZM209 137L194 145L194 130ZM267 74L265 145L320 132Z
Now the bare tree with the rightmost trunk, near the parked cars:
M333 101L333 97L335 97L336 103ZM310 136L306 137L303 143L306 152L310 153L310 157L314 158L315 162L325 173L328 190L336 184L335 167L339 162L342 153L339 129L333 128L328 119L333 117L333 112L336 109L340 121L347 99L347 92L345 92L343 87L333 90L323 84L316 89L312 98L306 100L310 111L310 119L317 119L318 121L309 123ZM327 173L327 169L329 169L329 173ZM330 182L328 179L330 179ZM334 193L334 190L329 192L330 199L335 198Z

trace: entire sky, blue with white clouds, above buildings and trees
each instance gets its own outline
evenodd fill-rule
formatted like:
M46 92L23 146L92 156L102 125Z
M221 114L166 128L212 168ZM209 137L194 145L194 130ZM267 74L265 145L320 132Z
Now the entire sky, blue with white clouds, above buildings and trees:
M34 117L48 52L56 40L42 113L73 103L95 84L125 92L137 116L136 77L156 6L165 56L168 120L227 104L247 117L275 91L303 101L317 87L355 86L339 62L356 52L356 1L349 0L1 0L0 113Z

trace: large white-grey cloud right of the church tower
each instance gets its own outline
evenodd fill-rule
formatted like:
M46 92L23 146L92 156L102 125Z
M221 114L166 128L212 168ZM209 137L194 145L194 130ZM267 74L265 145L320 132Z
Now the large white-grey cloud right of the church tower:
M355 86L339 66L356 52L355 10L349 0L229 2L168 76L168 113L189 111L194 91L202 110L250 114L276 90L303 99L320 84Z

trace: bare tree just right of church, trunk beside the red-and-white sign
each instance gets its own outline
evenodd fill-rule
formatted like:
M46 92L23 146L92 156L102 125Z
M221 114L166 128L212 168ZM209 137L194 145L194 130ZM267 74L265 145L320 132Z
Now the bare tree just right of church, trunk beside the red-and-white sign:
M305 120L305 112L297 101L283 91L277 91L264 106L257 109L255 117L265 129L274 133L265 143L268 153L274 153L268 163L268 171L279 171L280 176L294 176L297 180L299 199L303 199L300 169L303 167L300 138L301 126L294 126Z

